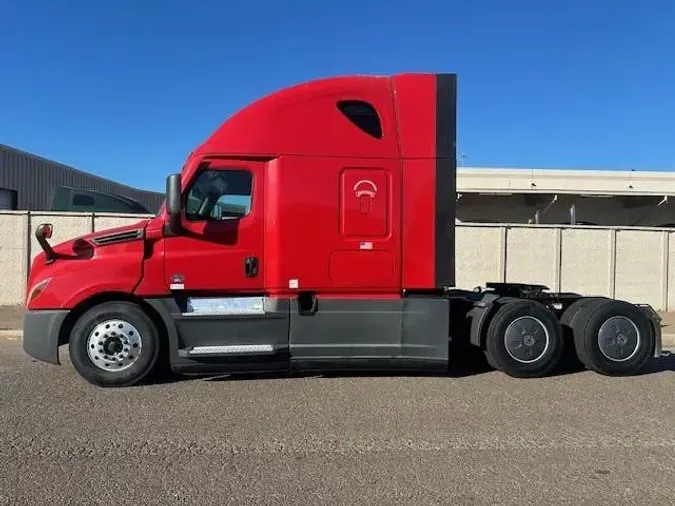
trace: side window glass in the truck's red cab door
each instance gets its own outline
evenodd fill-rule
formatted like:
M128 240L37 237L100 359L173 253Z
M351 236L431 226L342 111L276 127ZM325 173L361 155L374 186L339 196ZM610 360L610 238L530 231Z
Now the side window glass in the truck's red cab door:
M190 221L239 219L251 212L253 174L246 170L203 170L185 200Z

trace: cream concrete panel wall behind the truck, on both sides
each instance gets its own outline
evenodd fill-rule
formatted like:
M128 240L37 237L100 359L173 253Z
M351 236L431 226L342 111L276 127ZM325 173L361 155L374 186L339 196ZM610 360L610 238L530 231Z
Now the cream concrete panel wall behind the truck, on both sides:
M0 305L21 304L33 232L54 225L52 242L133 223L144 216L0 211ZM457 286L486 281L541 283L552 290L607 295L675 309L675 230L462 224L457 226Z

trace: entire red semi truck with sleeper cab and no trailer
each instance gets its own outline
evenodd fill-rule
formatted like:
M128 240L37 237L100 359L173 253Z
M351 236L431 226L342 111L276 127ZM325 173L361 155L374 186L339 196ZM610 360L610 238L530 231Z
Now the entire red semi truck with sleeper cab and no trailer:
M446 371L454 344L515 377L566 349L638 372L648 305L455 287L456 76L293 86L223 123L167 178L154 218L51 246L27 282L23 348L100 386L181 373Z

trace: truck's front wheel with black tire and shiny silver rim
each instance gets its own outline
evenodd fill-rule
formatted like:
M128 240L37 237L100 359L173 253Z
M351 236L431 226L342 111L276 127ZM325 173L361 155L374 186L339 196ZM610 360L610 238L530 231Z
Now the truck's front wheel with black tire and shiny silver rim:
M101 387L141 382L155 368L159 351L157 328L131 302L94 306L75 322L70 333L70 360L75 370Z

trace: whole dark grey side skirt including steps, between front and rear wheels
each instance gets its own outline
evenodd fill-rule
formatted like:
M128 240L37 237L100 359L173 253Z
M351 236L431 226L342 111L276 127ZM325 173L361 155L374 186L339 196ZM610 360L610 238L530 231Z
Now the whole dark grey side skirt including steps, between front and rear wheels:
M443 372L450 302L402 299L204 297L151 299L181 373Z

